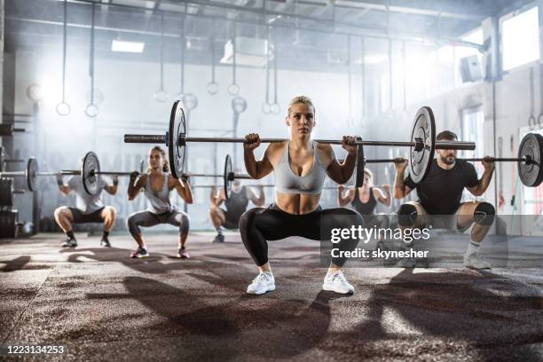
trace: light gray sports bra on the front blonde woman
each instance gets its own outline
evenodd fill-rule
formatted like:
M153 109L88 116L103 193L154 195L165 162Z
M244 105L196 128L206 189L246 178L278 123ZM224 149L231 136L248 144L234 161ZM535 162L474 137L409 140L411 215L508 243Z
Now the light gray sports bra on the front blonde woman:
M279 193L303 193L310 195L321 193L325 177L327 177L327 170L320 163L317 142L311 141L311 146L313 146L313 165L311 171L305 176L297 176L290 169L289 145L290 142L287 142L285 152L275 169L273 169L275 190Z

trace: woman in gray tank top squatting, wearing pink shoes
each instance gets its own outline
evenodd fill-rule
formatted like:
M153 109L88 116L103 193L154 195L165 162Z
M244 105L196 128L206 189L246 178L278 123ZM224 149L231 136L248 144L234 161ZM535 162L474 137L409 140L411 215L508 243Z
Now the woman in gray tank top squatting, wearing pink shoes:
M166 153L160 146L154 146L149 151L147 173L138 175L137 172L134 172L130 175L129 200L134 200L143 189L147 201L149 201L146 210L135 212L128 218L130 234L138 243L138 249L130 254L130 257L149 256L139 227L150 227L156 224L172 224L179 227L177 257L190 257L185 248L189 232L189 218L183 211L172 205L169 200L169 192L175 188L186 203L193 203L193 193L188 182L176 179L168 171ZM138 180L136 180L137 178Z

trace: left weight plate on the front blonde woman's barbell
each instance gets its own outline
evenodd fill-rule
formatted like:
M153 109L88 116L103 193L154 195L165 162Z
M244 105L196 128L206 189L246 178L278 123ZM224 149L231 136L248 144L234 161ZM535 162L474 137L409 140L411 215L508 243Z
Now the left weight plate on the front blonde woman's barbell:
M180 136L186 136L185 112L181 101L176 100L171 107L168 131L169 169L176 178L181 178L185 169L185 141Z

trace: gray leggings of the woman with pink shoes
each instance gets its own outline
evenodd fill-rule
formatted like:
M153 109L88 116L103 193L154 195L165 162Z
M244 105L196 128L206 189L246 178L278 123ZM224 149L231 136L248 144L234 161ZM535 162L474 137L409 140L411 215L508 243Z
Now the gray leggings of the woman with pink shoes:
M183 211L173 210L162 214L153 214L151 211L138 211L128 218L128 226L132 237L141 235L139 226L149 227L157 224L172 224L179 226L179 234L189 232L189 218Z

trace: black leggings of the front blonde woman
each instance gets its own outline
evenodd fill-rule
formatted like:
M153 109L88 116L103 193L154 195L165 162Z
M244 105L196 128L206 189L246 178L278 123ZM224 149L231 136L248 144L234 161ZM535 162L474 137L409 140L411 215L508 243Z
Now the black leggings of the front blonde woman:
M351 209L321 209L304 215L293 215L271 204L268 209L250 209L240 218L241 240L248 253L260 266L268 263L266 240L280 240L289 236L300 236L311 240L330 240L332 229L364 226L362 216ZM344 239L336 244L342 251L353 250L358 239ZM337 266L345 264L345 257L333 257Z

